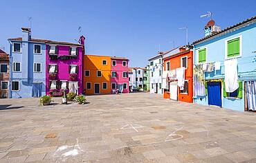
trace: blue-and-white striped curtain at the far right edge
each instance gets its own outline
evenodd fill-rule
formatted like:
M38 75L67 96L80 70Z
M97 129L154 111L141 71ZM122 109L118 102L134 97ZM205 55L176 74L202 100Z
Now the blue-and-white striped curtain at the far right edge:
M247 102L248 109L255 110L256 109L256 81L248 81L246 83L247 89Z

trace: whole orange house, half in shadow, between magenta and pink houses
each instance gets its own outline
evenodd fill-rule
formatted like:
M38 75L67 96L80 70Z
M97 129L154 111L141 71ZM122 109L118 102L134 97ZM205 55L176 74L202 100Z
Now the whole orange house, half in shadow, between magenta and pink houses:
M84 56L84 94L111 94L111 57Z

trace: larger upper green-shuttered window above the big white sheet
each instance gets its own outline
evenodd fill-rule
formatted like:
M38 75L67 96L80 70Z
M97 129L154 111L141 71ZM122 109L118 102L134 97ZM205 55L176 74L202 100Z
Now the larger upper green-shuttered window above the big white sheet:
M241 36L235 38L235 39L230 39L226 41L226 47L227 47L227 56L228 58L232 58L235 56L240 56L241 55Z

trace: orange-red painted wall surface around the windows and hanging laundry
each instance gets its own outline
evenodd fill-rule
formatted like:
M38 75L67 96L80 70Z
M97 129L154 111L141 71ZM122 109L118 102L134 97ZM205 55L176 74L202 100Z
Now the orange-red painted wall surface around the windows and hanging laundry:
M193 52L185 52L179 56L173 58L167 58L164 60L164 69L166 69L166 62L170 61L170 69L176 69L181 67L181 58L188 56L188 68L185 69L185 80L188 80L188 94L178 94L178 100L184 102L193 102ZM179 88L178 88L179 92ZM166 97L166 95L165 95Z

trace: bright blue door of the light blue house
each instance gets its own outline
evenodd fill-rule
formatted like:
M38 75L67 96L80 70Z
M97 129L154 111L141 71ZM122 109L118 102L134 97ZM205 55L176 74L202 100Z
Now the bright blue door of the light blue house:
M221 107L221 82L208 82L208 105Z

